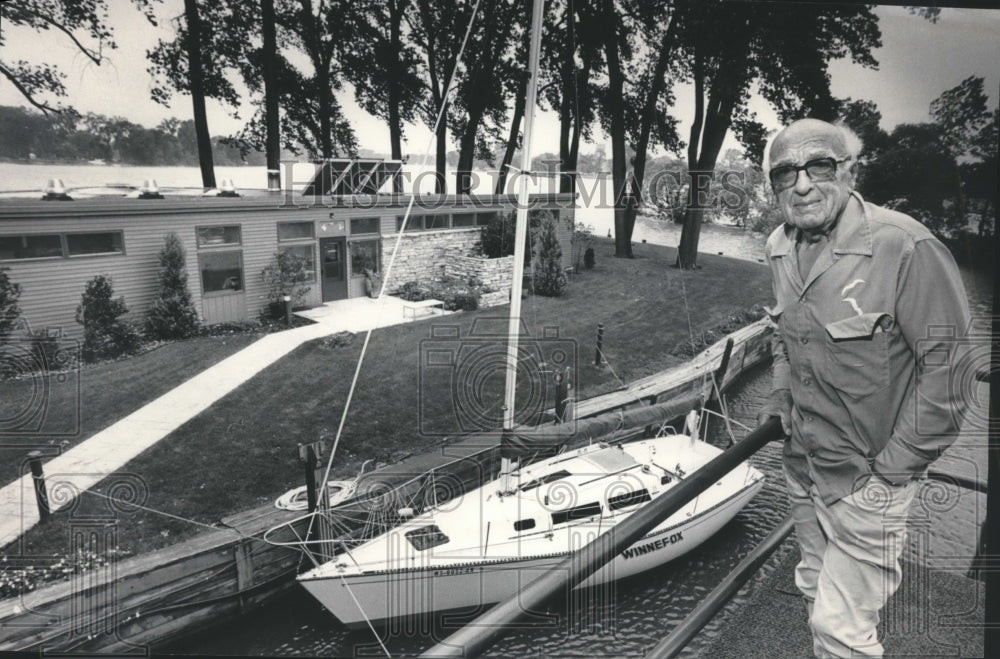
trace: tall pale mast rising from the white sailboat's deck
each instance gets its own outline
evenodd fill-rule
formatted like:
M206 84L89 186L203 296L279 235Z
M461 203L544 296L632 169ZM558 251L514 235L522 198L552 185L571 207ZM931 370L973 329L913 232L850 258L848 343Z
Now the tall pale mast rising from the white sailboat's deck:
M514 280L510 288L510 320L507 329L507 381L504 389L503 433L514 429L514 394L517 386L517 339L521 326L521 289L524 277L524 243L528 234L528 172L531 171L531 133L535 119L538 96L538 61L542 42L542 15L545 0L533 0L531 12L531 41L528 48L528 86L525 97L524 140L521 146L521 171L517 194L517 223L514 232ZM510 474L516 461L502 458L500 473L503 491L511 490Z

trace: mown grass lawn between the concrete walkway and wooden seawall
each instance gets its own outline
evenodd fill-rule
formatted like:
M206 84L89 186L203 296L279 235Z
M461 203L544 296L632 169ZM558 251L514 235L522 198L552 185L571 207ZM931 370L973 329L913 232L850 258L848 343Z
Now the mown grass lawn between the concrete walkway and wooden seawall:
M526 342L542 337L544 327L555 327L564 345L578 346L575 393L581 399L678 363L670 354L678 344L771 297L769 273L760 264L702 255L702 269L682 272L671 267L676 251L669 247L640 244L634 248L636 258L615 259L612 242L599 240L595 251L596 267L571 277L563 297L528 297L522 309ZM421 355L426 354L428 341L434 346L455 343L432 339L433 328L451 326L467 337L476 320L497 319L505 332L507 313L508 307L500 307L377 330L334 475L352 476L369 458L398 459L419 452L459 430L453 414L452 371L421 369ZM605 327L608 361L600 368L593 365L598 323ZM201 524L272 501L303 481L297 444L329 439L336 432L362 343L363 336L355 336L301 346L129 462L123 471L142 479L149 493L147 506ZM178 346L174 359L197 362L186 346ZM122 363L117 368L130 367ZM114 370L109 365L108 386L118 387L121 395L128 386L112 385L118 380ZM143 381L138 372L134 378ZM496 412L502 378L491 373L487 379L490 391L485 401L476 404ZM107 408L102 418L113 418L121 409L110 395L96 398L93 405L98 404ZM546 404L551 405L551 399ZM98 488L106 491L113 478ZM83 499L90 499L87 506L104 505L95 497ZM118 517L119 546L127 553L149 551L204 530L148 511ZM29 531L24 538L27 553L65 552L68 518L69 514L60 513L52 524Z

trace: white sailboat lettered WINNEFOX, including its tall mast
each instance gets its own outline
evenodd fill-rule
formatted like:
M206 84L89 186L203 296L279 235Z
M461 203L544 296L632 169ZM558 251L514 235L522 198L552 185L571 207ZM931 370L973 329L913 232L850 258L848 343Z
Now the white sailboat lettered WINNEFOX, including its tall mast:
M543 4L534 3L523 171L530 168ZM613 533L623 520L721 453L699 438L694 413L683 433L616 445L598 442L521 464L519 453L535 450L519 436L514 421L527 202L527 179L522 177L500 474L419 513L400 510L397 523L354 546L328 545L340 550L297 578L349 627L446 610L475 612L504 600L575 549ZM693 550L729 522L762 485L763 475L743 463L578 587L633 576ZM315 541L303 545L308 542Z

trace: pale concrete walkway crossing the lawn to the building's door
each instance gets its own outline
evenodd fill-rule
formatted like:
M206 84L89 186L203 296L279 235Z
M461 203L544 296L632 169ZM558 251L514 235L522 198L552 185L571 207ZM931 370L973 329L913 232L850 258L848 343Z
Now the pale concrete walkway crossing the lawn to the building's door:
M296 329L268 334L250 346L209 367L187 382L139 408L45 463L50 493L82 492L119 471L129 460L160 441L238 386L312 339L338 332L369 329L424 320L440 310L403 314L403 301L355 298L327 303L300 315L315 321ZM71 497L50 496L54 511L66 507ZM0 489L0 547L17 540L38 523L31 476Z

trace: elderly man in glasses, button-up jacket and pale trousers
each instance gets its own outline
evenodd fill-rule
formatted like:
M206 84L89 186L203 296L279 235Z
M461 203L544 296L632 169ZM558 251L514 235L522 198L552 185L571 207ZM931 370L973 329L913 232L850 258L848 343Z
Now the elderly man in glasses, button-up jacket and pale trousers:
M949 363L967 331L954 259L916 220L854 191L850 130L795 122L769 152L785 223L767 241L784 467L819 657L882 656L879 612L900 581L916 479L964 409Z

